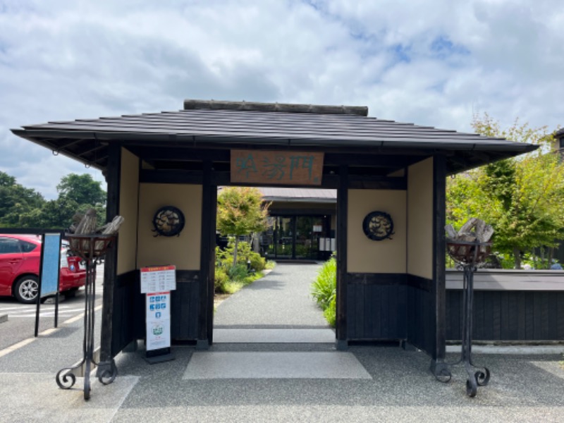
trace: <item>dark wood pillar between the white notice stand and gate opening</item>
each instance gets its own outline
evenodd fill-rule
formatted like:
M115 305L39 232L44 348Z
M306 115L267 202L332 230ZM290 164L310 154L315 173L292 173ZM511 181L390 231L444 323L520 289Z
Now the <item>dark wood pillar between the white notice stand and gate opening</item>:
M197 348L213 342L214 252L217 188L212 185L212 162L204 161L202 178L202 239L200 244L200 313Z

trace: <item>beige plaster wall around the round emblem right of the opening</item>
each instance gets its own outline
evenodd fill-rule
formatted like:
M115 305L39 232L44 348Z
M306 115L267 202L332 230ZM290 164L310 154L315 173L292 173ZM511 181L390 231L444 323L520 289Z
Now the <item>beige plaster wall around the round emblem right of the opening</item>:
M406 202L405 191L348 191L348 272L405 273ZM395 233L391 240L373 241L364 235L362 221L369 212L375 211L386 212L392 217Z

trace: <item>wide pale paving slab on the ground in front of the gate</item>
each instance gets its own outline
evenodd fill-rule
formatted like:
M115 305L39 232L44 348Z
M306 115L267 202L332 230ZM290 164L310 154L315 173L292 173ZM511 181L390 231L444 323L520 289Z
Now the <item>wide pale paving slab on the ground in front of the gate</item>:
M194 353L183 379L372 379L351 353Z

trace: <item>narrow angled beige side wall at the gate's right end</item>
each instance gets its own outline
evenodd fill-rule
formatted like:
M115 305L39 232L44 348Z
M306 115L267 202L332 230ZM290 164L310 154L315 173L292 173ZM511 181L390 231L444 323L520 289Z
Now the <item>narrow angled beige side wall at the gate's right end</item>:
M407 273L433 278L433 158L407 171Z

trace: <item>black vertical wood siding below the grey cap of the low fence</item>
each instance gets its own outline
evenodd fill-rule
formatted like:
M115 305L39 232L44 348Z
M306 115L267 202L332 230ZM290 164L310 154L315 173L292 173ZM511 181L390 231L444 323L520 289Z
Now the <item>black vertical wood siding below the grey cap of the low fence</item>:
M459 341L462 291L446 292L446 338ZM564 340L564 291L474 291L474 341Z

